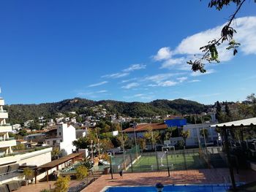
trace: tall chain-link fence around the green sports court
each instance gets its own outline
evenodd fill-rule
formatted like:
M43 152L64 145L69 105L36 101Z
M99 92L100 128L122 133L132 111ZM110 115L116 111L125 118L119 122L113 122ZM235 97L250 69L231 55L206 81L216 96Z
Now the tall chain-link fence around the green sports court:
M203 149L184 149L155 151L142 153L130 150L121 155L114 155L112 160L113 173L123 172L154 172L186 169L208 169L227 167L222 147Z

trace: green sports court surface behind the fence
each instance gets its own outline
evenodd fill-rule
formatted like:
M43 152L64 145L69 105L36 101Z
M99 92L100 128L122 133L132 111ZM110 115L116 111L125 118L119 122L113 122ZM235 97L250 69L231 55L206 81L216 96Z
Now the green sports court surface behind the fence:
M183 169L206 169L207 164L198 153L168 155L141 155L128 172L146 172L156 170L167 170L167 158L170 170ZM158 161L158 163L157 163Z

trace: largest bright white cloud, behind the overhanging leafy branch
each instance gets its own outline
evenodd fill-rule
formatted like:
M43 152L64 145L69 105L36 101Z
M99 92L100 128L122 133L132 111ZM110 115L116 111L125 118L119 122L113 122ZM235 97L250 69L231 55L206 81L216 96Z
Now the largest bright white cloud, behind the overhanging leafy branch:
M162 47L154 56L154 59L163 61L161 68L170 69L175 66L179 70L191 70L191 66L186 61L195 59L194 55L200 57L203 54L200 47L207 45L212 39L218 39L223 26L225 26L225 23L222 26L193 34L181 40L174 50L170 50L170 47ZM234 39L241 43L238 53L256 54L256 17L237 18L233 27L237 31L237 34L234 34ZM218 47L220 61L230 61L234 57L233 51L226 50L226 47L227 43Z

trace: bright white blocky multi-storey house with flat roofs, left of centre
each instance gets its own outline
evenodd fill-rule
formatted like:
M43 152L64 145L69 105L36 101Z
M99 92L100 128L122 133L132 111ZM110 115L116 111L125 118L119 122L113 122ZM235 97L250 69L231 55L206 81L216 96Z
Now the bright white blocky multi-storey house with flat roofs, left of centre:
M61 123L56 125L54 134L46 136L45 143L53 147L59 147L62 151L62 155L69 155L75 151L75 146L72 142L76 140L75 127L67 125L67 123Z

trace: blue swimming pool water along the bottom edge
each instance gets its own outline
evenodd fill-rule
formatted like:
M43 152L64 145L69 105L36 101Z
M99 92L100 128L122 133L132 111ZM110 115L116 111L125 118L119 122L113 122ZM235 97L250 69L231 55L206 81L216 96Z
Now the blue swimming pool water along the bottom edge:
M163 192L225 192L229 188L227 184L219 185L165 185ZM141 186L141 187L109 187L105 192L156 192L154 186Z

